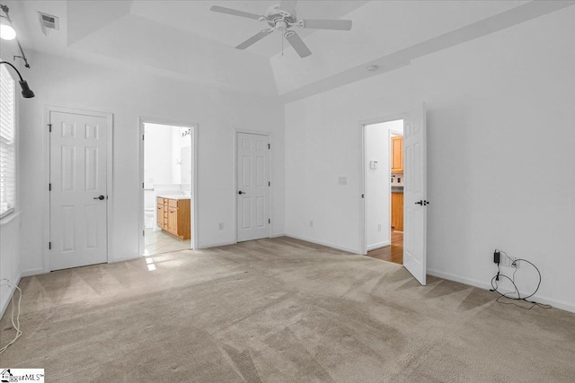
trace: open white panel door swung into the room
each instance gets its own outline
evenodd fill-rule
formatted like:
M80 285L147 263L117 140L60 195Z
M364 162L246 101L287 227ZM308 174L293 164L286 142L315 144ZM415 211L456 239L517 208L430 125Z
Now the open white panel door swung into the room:
M403 120L403 265L426 283L427 130L425 104Z

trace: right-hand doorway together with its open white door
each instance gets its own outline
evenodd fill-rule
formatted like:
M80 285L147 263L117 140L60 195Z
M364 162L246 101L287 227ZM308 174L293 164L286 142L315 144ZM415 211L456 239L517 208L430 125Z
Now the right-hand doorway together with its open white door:
M394 124L397 128L392 127ZM403 132L401 126L403 126ZM360 127L362 135L360 240L363 244L363 254L368 255L369 250L389 247L385 251L389 251L391 256L394 239L396 243L402 239L403 246L402 248L397 246L396 251L403 254L403 266L422 285L425 285L427 279L427 206L429 205L425 104L396 118L367 121ZM395 138L402 134L402 138ZM385 137L387 141L385 142L385 138L374 138L377 136ZM381 149L382 147L389 149L385 151ZM394 147L401 152L401 155L399 152L393 155ZM376 170L383 171L377 173ZM395 177L392 177L393 175ZM389 191L390 197L381 197L387 196L386 191ZM394 210L396 213L397 210L403 210L403 217L400 216L403 222L398 222L398 217L395 217L396 221L393 219L392 201L397 202L397 197L403 200L403 207L396 204ZM389 226L384 226L384 217L389 217ZM402 226L403 235L398 230ZM399 261L398 257L396 261Z

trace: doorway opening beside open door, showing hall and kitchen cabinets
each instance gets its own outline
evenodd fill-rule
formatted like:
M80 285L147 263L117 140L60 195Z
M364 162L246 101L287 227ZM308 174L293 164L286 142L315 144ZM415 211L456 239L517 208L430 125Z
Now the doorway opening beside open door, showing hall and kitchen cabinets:
M365 130L367 256L403 265L403 119Z

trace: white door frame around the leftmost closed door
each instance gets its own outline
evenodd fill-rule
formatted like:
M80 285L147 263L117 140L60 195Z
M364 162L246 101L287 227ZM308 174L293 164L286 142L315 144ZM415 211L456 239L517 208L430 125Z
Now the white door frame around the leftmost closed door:
M94 117L101 117L106 118L106 125L108 126L108 139L106 142L107 145L107 153L106 153L106 195L108 196L108 200L106 201L106 262L111 262L111 233L112 230L112 206L114 204L113 198L113 132L114 132L114 115L112 113L107 112L99 112L93 110L85 110L85 109L73 109L73 108L65 108L65 107L57 107L53 105L45 105L44 106L44 143L45 143L45 151L44 151L44 185L46 185L46 193L44 194L44 265L43 265L43 272L49 273L50 272L50 250L49 250L49 242L50 242L50 192L49 192L49 183L50 183L50 133L49 133L49 124L50 124L50 113L51 112L61 112L61 113L71 113L71 114L79 114L79 115L86 115L86 116L94 116Z

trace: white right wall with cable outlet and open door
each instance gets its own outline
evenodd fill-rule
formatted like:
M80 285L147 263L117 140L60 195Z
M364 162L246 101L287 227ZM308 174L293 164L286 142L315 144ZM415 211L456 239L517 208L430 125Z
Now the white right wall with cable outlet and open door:
M358 252L358 121L427 101L429 272L487 287L501 248L539 267L537 299L575 310L573 20L566 8L288 104L288 235Z

